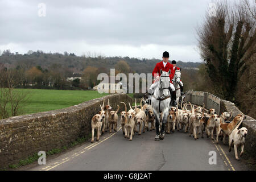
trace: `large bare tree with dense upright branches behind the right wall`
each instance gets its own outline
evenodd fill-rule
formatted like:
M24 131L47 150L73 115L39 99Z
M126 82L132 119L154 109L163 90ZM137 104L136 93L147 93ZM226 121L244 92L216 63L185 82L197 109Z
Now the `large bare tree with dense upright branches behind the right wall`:
M216 16L207 14L203 25L197 27L197 40L214 88L220 89L222 98L234 101L238 77L255 54L255 19L245 8L249 4L215 3Z

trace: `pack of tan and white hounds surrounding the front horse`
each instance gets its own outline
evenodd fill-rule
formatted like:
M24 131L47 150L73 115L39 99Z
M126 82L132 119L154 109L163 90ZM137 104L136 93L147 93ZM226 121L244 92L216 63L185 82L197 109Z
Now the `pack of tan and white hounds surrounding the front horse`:
M121 124L122 133L124 138L133 140L135 133L141 135L145 131L152 131L156 129L155 126L155 117L151 105L146 104L146 97L141 99L140 106L137 106L137 100L135 99L135 108L131 107L129 103L129 110L127 110L127 105L125 102L120 102L125 106L125 110L119 111L119 105L117 110L113 110L113 107L110 106L108 100L108 105L100 105L101 110L98 111L92 118L92 143L94 142L94 130L97 130L96 141L100 140L100 136L109 130L109 133L117 131L118 123ZM187 109L187 106L190 105L191 110ZM236 159L239 160L237 154L237 147L241 146L240 156L243 155L243 148L245 144L245 138L247 135L247 129L242 127L238 129L241 125L245 115L238 114L230 122L232 118L232 112L224 112L221 115L217 115L214 109L206 110L201 106L192 105L190 102L185 103L184 106L181 105L181 109L171 106L168 112L167 117L167 127L165 127L165 132L170 134L177 131L183 131L188 133L189 137L192 137L197 140L201 134L201 138L204 138L204 133L206 133L207 138L212 140L215 139L215 142L218 143L218 138L220 137L223 143L225 144L225 137L228 136L229 143L229 152L231 147L234 146L234 152ZM140 108L139 108L140 107ZM119 114L119 116L118 116ZM161 116L162 117L162 116ZM160 118L161 126L162 118ZM159 126L159 127L160 127ZM214 137L214 131L216 137Z

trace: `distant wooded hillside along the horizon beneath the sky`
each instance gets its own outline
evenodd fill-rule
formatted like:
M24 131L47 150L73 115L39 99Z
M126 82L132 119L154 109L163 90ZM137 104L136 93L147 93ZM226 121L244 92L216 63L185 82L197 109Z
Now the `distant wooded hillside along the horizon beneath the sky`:
M3 51L0 56L0 63L6 68L24 68L40 66L42 69L57 68L65 69L65 76L71 76L73 72L81 73L86 67L92 66L101 68L102 72L109 72L110 68L124 60L129 64L132 71L136 73L151 73L155 64L161 60L157 59L137 59L134 57L84 57L76 56L74 53L44 53L43 51L26 54L11 53L9 50ZM178 67L197 68L201 63L177 61Z

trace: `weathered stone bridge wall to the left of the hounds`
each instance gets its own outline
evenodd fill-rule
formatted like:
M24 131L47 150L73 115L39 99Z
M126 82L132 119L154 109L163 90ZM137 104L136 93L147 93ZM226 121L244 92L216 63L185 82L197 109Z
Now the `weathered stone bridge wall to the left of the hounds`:
M114 110L124 110L133 99L127 94L111 94L65 109L20 115L0 120L0 169L20 159L53 148L62 148L91 133L91 119L100 104L110 101Z

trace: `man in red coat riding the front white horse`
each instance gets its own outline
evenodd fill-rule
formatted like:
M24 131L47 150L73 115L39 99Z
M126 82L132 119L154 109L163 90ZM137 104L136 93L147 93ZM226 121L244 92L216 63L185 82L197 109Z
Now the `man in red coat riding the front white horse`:
M171 69L171 74L169 75L170 77L170 86L169 86L169 90L171 93L171 103L170 105L172 106L177 106L177 102L176 102L176 91L174 88L174 84L172 84L172 75L174 75L174 67L171 63L168 62L169 60L169 53L167 51L163 52L163 61L160 61L159 63L156 63L155 68L152 72L152 76L155 78L154 83L150 86L150 88L148 89L148 93L150 94L149 98L148 98L148 102L150 103L151 100L151 96L152 94L154 94L154 91L156 89L156 86L158 85L158 81L159 78L161 76L160 70L162 69L162 71L168 72Z

